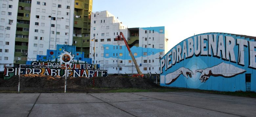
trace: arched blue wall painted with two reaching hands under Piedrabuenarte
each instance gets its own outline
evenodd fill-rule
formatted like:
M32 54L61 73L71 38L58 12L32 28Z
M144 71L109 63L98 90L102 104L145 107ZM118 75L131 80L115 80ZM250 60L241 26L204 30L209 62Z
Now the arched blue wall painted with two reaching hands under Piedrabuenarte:
M160 60L160 85L256 92L255 40L226 33L189 37Z

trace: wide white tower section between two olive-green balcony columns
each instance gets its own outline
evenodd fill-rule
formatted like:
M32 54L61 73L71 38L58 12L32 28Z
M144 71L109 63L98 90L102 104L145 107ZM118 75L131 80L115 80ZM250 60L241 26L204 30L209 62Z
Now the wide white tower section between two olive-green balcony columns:
M72 45L74 4L74 0L32 1L28 59L35 61L36 55L46 55L57 44Z

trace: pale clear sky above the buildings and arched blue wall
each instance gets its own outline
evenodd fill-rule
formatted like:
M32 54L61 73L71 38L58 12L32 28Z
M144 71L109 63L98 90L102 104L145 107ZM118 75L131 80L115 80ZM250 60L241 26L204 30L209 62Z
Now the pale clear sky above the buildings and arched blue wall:
M93 0L128 28L165 26L168 48L202 33L256 37L256 0Z

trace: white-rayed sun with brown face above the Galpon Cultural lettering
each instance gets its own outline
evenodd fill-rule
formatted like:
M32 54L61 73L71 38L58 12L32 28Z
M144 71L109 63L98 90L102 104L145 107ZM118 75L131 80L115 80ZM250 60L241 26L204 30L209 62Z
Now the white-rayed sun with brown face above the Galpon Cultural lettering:
M65 65L70 64L71 62L74 62L74 54L71 54L71 52L65 51L65 49L63 50L63 53L61 52L61 54L58 56L59 58L59 62L60 63L64 63Z

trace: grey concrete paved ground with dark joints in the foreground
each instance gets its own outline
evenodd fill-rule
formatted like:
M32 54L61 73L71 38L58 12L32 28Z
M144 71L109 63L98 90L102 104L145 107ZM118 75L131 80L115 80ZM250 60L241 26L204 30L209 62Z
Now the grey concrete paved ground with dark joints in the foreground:
M195 92L0 94L1 117L256 115L256 99Z

